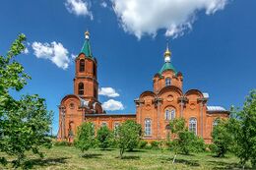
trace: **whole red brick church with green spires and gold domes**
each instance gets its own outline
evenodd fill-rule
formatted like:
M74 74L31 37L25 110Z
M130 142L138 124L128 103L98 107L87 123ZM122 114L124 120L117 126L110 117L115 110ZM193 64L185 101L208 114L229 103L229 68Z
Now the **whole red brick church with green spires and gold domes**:
M107 126L113 130L126 120L135 120L144 130L143 139L164 140L169 135L169 120L183 117L190 131L211 142L216 118L228 117L229 112L221 106L208 106L208 93L183 91L183 76L173 67L168 46L163 57L163 66L153 78L153 91L144 91L134 100L136 113L106 113L98 101L97 62L86 31L85 43L75 59L74 93L66 95L59 105L58 139L72 142L83 122L92 122L96 129Z

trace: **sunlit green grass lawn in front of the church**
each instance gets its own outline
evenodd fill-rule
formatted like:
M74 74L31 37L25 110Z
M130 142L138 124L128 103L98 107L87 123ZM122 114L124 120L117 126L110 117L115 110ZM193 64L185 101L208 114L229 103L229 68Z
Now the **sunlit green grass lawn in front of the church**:
M43 149L45 157L39 159L29 156L32 169L239 169L238 159L233 155L224 158L213 157L209 152L193 155L177 155L176 163L172 164L173 152L169 150L141 149L125 152L124 158L118 158L118 149L90 149L81 156L74 146L53 146ZM0 153L1 157L2 153ZM11 157L9 157L9 161ZM249 165L248 165L249 166ZM11 164L0 169L12 169Z

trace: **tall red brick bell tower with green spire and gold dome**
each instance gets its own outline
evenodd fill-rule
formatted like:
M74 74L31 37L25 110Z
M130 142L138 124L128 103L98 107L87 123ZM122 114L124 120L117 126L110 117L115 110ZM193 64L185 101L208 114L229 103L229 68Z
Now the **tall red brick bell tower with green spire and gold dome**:
M75 64L74 94L89 102L97 102L97 63L91 50L88 30L85 32L85 42L80 54L75 59Z

